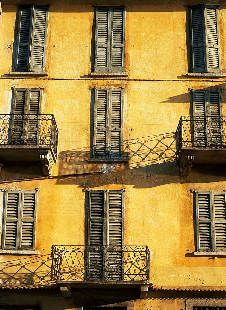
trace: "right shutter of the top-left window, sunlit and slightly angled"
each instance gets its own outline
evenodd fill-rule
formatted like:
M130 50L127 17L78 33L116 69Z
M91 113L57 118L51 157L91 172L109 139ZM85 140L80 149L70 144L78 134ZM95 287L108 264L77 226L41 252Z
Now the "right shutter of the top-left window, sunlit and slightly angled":
M35 6L29 71L45 71L48 6Z

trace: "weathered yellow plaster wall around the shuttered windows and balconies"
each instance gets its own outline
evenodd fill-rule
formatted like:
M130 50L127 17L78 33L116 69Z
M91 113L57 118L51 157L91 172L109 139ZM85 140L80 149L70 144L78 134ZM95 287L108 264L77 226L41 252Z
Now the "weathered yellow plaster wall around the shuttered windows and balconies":
M12 78L9 73L17 38L18 6L16 1L2 1L0 113L10 113L12 87L43 87L41 112L54 114L59 129L58 162L53 175L100 171L101 163L87 161L90 115L93 115L91 92L94 87L123 86L124 150L130 161L117 164L105 175L2 185L2 189L39 189L36 249L40 251L39 256L0 256L2 282L9 279L8 283L46 283L50 276L51 244L84 244L82 189L89 187L125 188L125 244L148 245L150 281L154 284L224 285L223 257L212 259L192 254L195 213L190 190L223 191L225 167L194 166L189 177L182 178L175 162L174 132L180 115L191 112L191 89L222 89L223 115L226 115L224 79L186 77L190 65L188 3L128 2L129 75L106 79L89 77L94 3L64 0L48 3L49 76ZM121 2L106 2L112 4ZM222 71L226 72L226 10L222 5L219 9ZM41 164L2 167L2 180L35 176L42 176ZM0 197L2 214L3 192Z

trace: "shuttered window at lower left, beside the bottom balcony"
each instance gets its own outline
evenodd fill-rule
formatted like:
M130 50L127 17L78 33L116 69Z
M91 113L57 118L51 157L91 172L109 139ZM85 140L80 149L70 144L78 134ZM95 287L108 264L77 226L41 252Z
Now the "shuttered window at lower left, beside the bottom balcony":
M5 192L3 250L34 250L37 190Z

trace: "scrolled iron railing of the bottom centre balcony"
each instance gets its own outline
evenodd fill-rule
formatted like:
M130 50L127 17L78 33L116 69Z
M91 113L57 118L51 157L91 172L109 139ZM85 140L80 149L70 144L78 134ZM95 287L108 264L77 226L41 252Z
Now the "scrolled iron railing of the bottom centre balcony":
M54 281L149 281L147 246L52 246Z

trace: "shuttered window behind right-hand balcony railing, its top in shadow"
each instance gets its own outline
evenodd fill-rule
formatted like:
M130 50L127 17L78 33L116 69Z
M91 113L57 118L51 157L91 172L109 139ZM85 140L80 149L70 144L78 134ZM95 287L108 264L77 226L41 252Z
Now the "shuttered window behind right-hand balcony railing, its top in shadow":
M221 90L193 91L195 146L219 146L223 144Z

